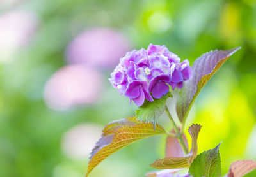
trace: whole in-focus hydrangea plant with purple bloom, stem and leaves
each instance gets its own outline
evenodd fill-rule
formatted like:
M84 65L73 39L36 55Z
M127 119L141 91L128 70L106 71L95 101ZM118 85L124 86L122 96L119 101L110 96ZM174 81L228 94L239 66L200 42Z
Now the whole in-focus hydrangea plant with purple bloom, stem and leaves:
M132 50L120 59L109 81L114 88L133 101L138 109L136 115L116 120L104 128L102 137L93 148L88 171L102 160L139 139L163 134L166 139L166 157L157 159L151 167L162 169L146 174L157 177L202 177L221 176L220 144L211 150L197 154L197 139L201 125L192 124L188 132L191 136L191 149L184 135L184 127L189 110L196 96L220 66L239 48L214 50L195 60L193 67L189 61L180 58L165 46L150 44L141 50ZM178 89L176 111L182 127L177 127L166 100ZM166 131L157 124L157 118L166 111L173 126ZM180 169L189 168L188 174L175 174ZM256 168L253 160L241 160L230 166L227 176L243 176Z

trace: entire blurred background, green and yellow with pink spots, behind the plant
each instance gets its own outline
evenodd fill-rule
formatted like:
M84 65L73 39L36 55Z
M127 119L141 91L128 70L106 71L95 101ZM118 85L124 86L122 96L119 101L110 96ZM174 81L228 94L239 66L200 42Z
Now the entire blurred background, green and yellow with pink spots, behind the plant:
M136 109L109 74L149 43L191 64L242 47L199 94L187 127L203 125L199 152L223 141L222 174L235 160L256 160L255 0L1 0L0 176L84 176L104 125ZM164 115L159 123L169 124ZM127 146L91 176L144 176L164 157L164 139Z

